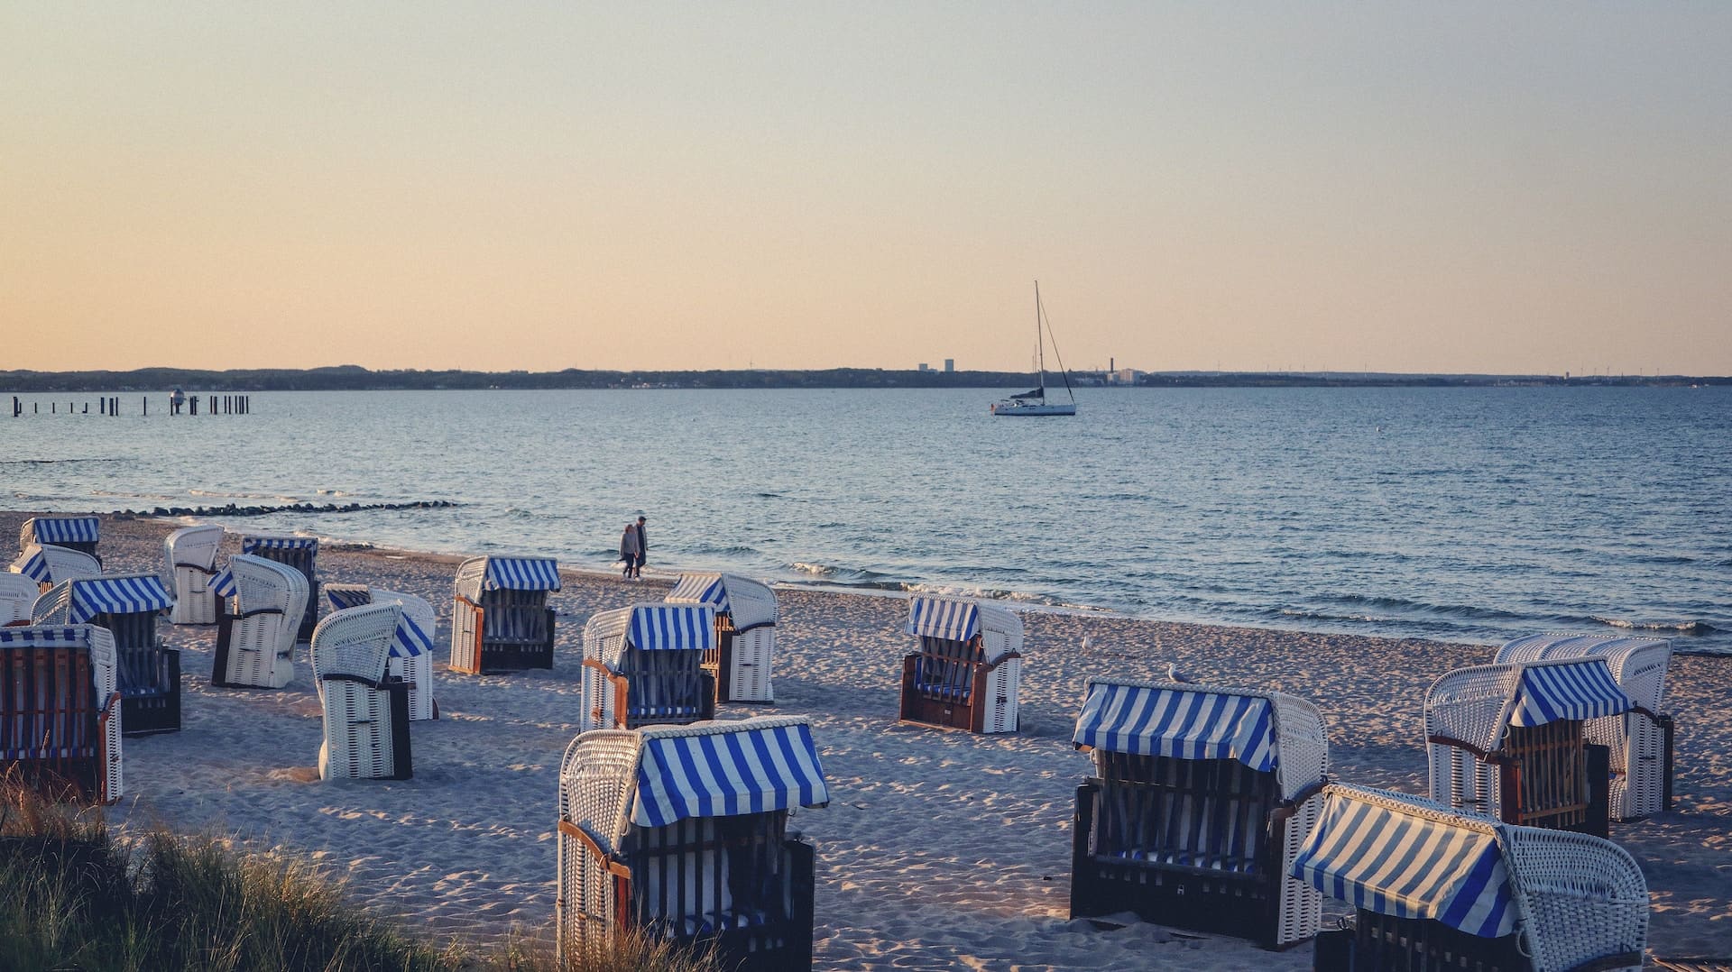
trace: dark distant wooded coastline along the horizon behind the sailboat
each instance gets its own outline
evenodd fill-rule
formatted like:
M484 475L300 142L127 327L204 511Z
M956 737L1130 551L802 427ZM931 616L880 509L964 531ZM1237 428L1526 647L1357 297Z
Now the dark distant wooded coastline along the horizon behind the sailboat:
M1732 376L1684 374L1394 374L1360 371L1076 371L1074 385L1110 388L1491 388L1491 386L1690 386L1732 385ZM733 371L372 371L142 367L137 371L0 371L0 392L433 392L554 388L1013 388L1020 371L918 371L883 367Z

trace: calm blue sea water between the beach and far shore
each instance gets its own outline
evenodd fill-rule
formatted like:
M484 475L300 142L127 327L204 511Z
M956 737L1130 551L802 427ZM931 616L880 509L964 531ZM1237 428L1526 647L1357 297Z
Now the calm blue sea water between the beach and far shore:
M251 416L0 418L19 509L398 502L230 528L1140 617L1732 651L1732 388L256 393ZM94 400L55 395L54 400ZM152 412L166 411L154 395Z

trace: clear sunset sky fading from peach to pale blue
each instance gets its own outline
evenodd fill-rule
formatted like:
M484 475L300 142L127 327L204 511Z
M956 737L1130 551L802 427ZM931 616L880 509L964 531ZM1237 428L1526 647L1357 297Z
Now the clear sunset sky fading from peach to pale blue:
M0 369L1732 374L1732 3L5 3ZM1048 360L1051 364L1051 359Z

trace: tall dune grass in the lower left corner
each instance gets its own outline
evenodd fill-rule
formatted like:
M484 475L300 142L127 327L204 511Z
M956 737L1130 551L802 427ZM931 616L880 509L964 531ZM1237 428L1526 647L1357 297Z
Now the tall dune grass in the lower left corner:
M9 972L714 972L712 956L622 937L559 970L551 949L433 946L348 903L286 854L154 828L0 781L0 969Z

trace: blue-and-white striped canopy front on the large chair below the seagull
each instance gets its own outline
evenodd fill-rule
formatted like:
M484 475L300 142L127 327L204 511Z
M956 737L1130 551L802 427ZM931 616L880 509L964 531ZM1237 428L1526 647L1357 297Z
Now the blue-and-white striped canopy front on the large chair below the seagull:
M1266 697L1179 684L1089 681L1070 742L1134 755L1237 759L1263 773L1280 759Z

